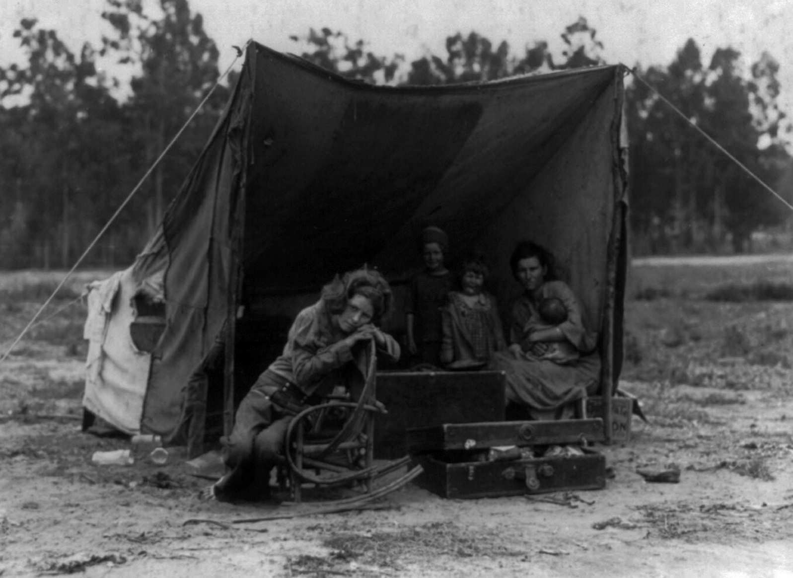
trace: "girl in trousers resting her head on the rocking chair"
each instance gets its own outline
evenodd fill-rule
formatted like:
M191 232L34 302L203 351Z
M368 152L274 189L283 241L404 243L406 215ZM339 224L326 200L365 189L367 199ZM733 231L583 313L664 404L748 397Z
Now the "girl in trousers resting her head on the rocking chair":
M324 286L320 300L297 314L282 355L239 404L232 434L224 439L227 473L202 497L233 501L270 496L270 472L282 461L293 417L339 385L353 396L364 391L366 350L372 341L378 352L399 360L399 345L377 327L391 301L388 282L374 270L354 270Z

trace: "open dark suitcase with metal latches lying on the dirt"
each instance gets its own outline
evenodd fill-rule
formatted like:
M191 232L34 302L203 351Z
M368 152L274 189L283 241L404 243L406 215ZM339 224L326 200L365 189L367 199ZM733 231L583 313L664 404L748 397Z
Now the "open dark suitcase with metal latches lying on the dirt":
M586 447L603 441L602 419L446 423L407 432L424 473L416 482L443 498L519 496L606 485L606 460ZM550 446L579 450L545 457Z

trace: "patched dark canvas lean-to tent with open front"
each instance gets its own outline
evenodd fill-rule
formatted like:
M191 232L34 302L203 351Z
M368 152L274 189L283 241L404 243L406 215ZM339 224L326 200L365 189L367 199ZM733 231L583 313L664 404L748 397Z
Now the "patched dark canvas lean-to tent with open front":
M368 86L249 44L224 117L159 234L96 287L86 408L125 431L183 440L187 422L222 413L225 401L228 425L232 392L239 400L251 385L241 381L259 369L250 360L266 366L284 323L320 286L367 263L398 293L427 224L446 229L453 259L485 252L503 305L519 293L508 267L515 242L549 247L600 330L610 392L626 268L623 74ZM234 329L241 302L252 333ZM227 319L226 394L188 391ZM160 329L144 348L130 338L142 323ZM399 335L399 312L391 323ZM259 354L246 361L244 350Z

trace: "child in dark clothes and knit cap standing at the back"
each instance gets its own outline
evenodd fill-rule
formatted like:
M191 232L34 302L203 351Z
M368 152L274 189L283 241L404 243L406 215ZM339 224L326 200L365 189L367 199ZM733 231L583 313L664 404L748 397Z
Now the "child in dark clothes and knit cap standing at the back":
M451 274L443 264L449 238L437 227L421 232L419 248L424 270L412 278L408 294L408 350L420 362L440 364L441 308L451 290Z

